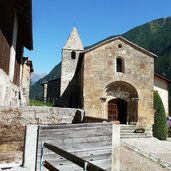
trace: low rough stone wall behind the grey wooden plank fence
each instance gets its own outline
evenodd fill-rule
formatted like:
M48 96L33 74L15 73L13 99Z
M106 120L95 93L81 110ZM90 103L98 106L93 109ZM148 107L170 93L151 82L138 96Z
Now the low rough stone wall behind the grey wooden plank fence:
M0 144L24 140L26 125L72 123L77 109L53 107L0 107Z

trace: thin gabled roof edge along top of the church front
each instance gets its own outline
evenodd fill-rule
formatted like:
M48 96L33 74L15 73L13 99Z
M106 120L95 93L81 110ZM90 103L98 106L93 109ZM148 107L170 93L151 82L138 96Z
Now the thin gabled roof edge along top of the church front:
M96 49L96 48L98 48L98 47L100 47L102 45L105 45L105 44L110 43L112 41L115 41L117 39L123 41L124 43L132 46L133 48L135 48L135 49L137 49L137 50L139 50L139 51L141 51L141 52L143 52L143 53L145 53L145 54L147 54L147 55L149 55L151 57L158 57L156 54L154 54L154 53L152 53L152 52L150 52L150 51L136 45L135 43L123 38L122 36L111 37L109 39L105 39L104 41L100 41L99 43L96 43L94 46L90 46L90 48L84 50L83 52L86 53L86 52L92 51L92 50L94 50L94 49Z

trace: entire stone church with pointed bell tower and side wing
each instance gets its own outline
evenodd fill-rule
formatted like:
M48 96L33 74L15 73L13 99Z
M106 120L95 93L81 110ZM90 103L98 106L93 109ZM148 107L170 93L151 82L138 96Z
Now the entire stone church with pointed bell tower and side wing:
M153 92L162 95L167 113L170 83L154 73L155 58L121 36L85 49L73 28L62 49L61 78L56 80L59 101L84 109L87 116L152 125Z

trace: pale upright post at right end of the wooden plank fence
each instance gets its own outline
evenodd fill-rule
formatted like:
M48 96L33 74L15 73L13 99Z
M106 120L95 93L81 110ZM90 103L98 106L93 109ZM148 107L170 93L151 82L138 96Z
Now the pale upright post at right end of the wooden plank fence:
M120 171L120 125L112 124L112 170Z

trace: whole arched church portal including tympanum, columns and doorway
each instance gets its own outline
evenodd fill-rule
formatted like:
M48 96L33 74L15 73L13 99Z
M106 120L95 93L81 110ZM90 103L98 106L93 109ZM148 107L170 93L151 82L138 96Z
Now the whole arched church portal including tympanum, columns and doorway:
M129 83L117 81L106 87L106 112L111 121L136 124L138 121L138 93Z

